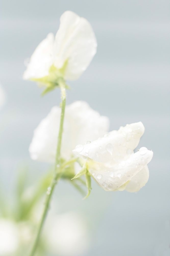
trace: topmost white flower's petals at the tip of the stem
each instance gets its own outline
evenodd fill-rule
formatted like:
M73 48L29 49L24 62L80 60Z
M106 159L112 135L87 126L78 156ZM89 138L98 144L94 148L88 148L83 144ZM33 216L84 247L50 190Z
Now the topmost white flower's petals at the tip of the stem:
M56 76L76 80L86 70L96 54L97 42L90 23L77 14L66 11L60 18L60 27L54 35L47 35L31 56L23 79L49 76L52 65Z

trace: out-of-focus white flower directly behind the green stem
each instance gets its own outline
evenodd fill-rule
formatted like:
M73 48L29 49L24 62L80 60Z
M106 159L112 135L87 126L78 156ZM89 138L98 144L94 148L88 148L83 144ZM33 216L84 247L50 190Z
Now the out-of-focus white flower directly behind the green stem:
M54 162L61 109L54 106L34 131L29 151L34 160ZM84 101L66 106L61 157L68 159L77 144L96 140L108 131L109 120Z

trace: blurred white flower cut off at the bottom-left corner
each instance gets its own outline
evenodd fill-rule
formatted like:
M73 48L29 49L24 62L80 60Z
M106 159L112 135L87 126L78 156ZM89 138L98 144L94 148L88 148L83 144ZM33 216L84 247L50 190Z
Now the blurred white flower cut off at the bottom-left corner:
M19 233L15 223L0 219L0 255L14 255L19 246Z

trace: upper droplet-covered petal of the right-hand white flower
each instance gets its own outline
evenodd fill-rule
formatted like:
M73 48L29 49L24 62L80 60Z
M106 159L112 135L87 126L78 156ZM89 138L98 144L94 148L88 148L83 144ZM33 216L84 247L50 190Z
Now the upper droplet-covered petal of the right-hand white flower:
M141 122L126 125L118 131L112 131L96 141L86 144L82 150L77 147L73 151L80 157L88 156L97 162L113 166L121 160L126 160L139 143L145 128Z

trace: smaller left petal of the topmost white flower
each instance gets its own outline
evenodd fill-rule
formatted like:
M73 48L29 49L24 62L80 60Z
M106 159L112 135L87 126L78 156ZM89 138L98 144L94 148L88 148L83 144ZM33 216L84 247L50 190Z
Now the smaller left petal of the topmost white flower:
M50 33L35 49L23 74L23 79L40 78L48 75L49 68L53 64L53 57L54 35Z

